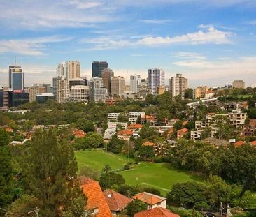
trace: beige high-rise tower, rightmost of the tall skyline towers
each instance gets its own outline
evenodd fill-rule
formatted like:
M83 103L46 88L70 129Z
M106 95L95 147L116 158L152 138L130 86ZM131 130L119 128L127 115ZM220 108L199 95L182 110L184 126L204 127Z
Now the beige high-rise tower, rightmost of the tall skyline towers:
M182 74L176 74L176 77L171 77L169 87L171 91L171 96L173 98L176 96L180 96L180 98L184 99L186 86L187 79L183 77Z

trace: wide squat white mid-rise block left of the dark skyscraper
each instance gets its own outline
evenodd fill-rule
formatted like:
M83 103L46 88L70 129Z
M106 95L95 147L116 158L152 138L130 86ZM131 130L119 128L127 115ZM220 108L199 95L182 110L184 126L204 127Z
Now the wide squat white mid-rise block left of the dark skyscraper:
M70 89L70 100L74 103L88 103L89 95L89 87L85 85L74 85Z

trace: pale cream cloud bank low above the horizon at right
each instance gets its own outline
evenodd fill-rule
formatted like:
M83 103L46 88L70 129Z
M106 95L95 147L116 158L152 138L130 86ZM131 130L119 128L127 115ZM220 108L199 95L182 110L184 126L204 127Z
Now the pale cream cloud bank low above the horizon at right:
M185 76L194 82L201 82L201 85L204 84L204 80L215 86L236 79L246 80L248 85L256 81L256 56L236 59L222 58L213 61L194 59L176 61L173 65L179 66Z

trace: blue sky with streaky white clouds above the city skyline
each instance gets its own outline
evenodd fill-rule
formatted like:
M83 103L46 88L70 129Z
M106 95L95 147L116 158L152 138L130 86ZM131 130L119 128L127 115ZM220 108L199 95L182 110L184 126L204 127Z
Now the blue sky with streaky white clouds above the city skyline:
M189 87L256 84L255 0L1 0L0 85L52 83L62 61L108 61L115 75L182 73Z

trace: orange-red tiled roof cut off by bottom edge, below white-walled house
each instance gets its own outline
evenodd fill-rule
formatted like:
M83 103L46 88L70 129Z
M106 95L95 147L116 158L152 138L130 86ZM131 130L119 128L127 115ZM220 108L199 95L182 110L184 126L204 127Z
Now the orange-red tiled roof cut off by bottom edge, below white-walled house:
M173 214L170 210L162 207L156 207L147 211L141 211L134 217L180 217L178 214Z

